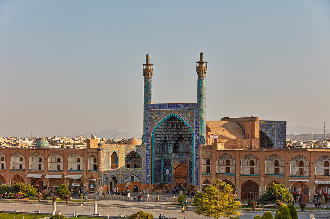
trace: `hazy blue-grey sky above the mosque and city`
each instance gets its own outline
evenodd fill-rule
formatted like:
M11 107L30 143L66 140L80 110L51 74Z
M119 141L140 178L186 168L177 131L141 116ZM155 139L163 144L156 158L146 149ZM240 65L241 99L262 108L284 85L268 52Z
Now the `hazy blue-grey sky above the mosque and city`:
M207 120L260 116L330 127L330 1L0 1L0 136L143 131L142 64L155 103Z

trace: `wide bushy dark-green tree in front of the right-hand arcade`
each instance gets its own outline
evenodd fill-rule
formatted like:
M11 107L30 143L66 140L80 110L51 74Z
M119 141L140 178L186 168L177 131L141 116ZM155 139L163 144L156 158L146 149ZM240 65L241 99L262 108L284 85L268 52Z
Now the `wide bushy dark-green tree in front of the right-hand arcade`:
M273 183L271 186L267 186L267 189L257 200L258 204L276 203L276 200L281 202L292 201L289 190L282 183Z

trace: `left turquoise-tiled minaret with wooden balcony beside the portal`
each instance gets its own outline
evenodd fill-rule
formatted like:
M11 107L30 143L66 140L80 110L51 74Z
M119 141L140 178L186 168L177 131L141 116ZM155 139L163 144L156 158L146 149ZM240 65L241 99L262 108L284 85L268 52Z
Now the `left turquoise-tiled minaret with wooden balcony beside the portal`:
M144 76L144 94L143 94L143 135L147 134L147 104L152 102L152 74L153 74L153 64L150 63L149 52L146 56L146 64L143 64L143 76Z

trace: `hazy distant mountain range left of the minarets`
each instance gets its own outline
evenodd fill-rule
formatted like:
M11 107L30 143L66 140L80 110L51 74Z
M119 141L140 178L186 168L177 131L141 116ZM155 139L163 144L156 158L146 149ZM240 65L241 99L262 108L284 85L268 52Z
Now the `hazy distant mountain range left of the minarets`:
M100 138L106 138L106 139L110 139L110 138L118 138L118 139L121 139L121 138L132 138L132 137L136 137L136 138L140 138L142 135L143 135L143 132L137 132L137 133L133 133L133 134L130 134L128 132L119 132L118 130L116 129L109 129L109 130L104 130L102 132L88 132L88 133L85 133L85 134L73 134L73 135L68 135L66 136L67 138L72 138L72 137L77 137L78 135L83 135L84 137L90 137L90 135L96 135L96 137L100 137Z

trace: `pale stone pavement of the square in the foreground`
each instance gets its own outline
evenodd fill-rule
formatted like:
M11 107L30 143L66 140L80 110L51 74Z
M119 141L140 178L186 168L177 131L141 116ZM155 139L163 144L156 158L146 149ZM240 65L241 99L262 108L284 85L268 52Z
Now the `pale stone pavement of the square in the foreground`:
M112 200L102 200L98 201L98 204L104 203L104 204L128 204L132 202L128 201L112 201ZM155 203L150 203L150 202L140 202L136 203L139 205L150 205L150 204L155 204ZM159 203L162 204L162 203ZM157 205L159 205L157 203ZM51 205L36 205L36 204L21 204L21 203L1 203L0 205L0 210L14 210L18 209L21 211L24 209L25 212L32 212L32 210L40 210L42 213L50 213L52 212L52 206ZM94 207L92 206L56 206L57 211L61 211L61 214L65 216L72 216L72 212L78 212L78 214L84 214L84 215L91 215L93 213ZM159 214L164 214L165 216L170 216L170 217L177 217L178 219L202 219L206 218L204 216L196 215L192 213L192 207L188 208L187 213L182 213L181 209L178 210L162 210L162 209L139 209L139 208L122 208L122 207L97 207L97 212L100 215L107 215L109 214L110 216L117 216L118 214L122 215L130 215L133 213L136 213L140 210L143 210L145 212L151 213L154 215L155 218L159 217ZM241 218L242 219L253 219L253 217L259 214L262 216L263 212L251 212L251 213L242 213ZM273 212L273 216L275 216L275 211ZM330 219L330 216L327 215L314 215L315 219ZM299 219L309 219L310 215L309 214L298 214Z

